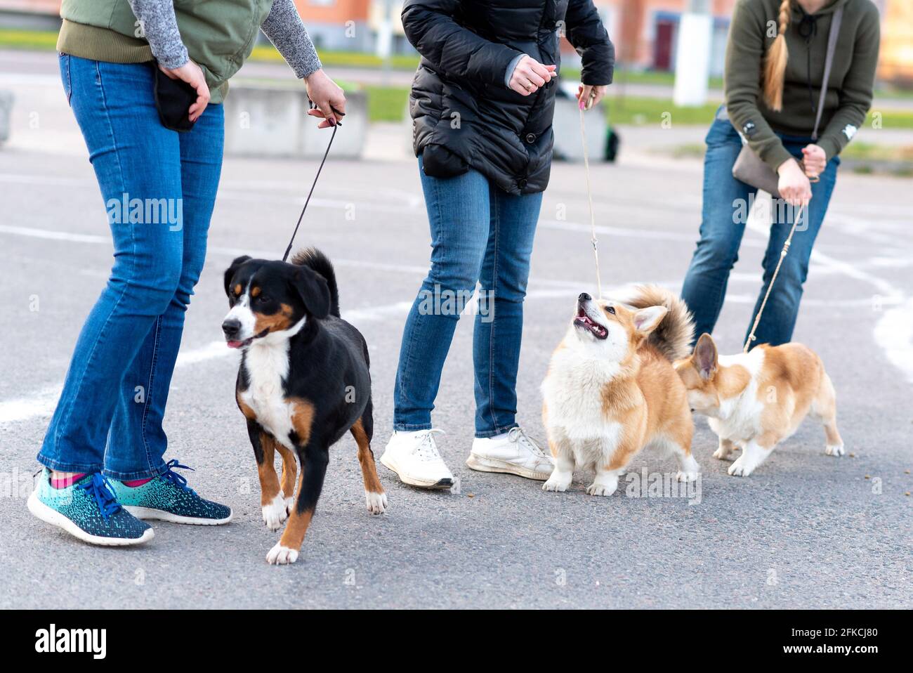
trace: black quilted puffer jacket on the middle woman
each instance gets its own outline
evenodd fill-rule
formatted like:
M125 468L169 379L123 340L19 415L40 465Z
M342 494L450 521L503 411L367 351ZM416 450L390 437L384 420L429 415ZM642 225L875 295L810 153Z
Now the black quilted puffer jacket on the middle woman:
M560 30L582 56L583 83L612 83L614 47L592 0L406 0L403 26L422 55L409 109L429 175L471 166L510 194L545 189L558 79L530 96L504 79L519 54L560 73Z

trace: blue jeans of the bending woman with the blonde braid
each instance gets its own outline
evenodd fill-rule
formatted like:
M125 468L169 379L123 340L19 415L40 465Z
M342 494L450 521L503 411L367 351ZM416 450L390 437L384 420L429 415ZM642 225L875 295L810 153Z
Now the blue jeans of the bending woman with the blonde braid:
M802 158L802 148L812 142L811 138L792 136L781 136L781 139L786 149L797 159ZM717 324L719 310L726 297L729 271L739 258L749 205L753 204L751 199L756 192L753 187L732 177L732 164L739 156L742 146L739 133L732 124L725 119L714 121L706 142L700 240L682 286L682 299L694 313L695 339L704 332L712 333ZM803 221L796 227L789 255L783 259L777 282L771 289L771 297L767 300L761 323L755 332L757 339L752 345L770 343L776 346L792 339L792 330L799 314L799 301L802 300L803 283L808 276L808 260L812 256L814 239L824 222L827 205L834 191L839 163L840 160L834 157L827 163L819 182L812 184L812 201L806 208ZM751 313L746 339L761 308L761 300L771 282L773 269L780 259L783 243L789 236L794 215L792 207L782 202L778 204L777 200L773 202L773 221L763 260L761 293Z

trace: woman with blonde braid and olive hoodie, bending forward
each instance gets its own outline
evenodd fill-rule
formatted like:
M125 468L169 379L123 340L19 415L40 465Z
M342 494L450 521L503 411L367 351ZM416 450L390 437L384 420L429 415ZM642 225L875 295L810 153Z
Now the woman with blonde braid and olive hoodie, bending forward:
M826 83L819 137L812 138L827 39L834 10L843 9ZM771 282L799 205L802 221L756 332L757 343L792 339L814 239L834 190L839 153L866 119L878 59L879 18L871 0L740 0L729 28L726 105L707 135L704 208L698 248L682 298L694 312L695 336L712 332L739 255L754 189L732 176L742 142L779 175L763 285ZM753 319L752 319L753 323Z

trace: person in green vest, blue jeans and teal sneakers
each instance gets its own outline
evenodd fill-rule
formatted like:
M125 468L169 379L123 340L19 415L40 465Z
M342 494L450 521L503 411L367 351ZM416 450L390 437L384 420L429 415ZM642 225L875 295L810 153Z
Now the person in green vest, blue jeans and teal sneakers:
M231 519L174 471L185 466L164 461L162 429L205 259L227 81L262 28L305 80L320 127L345 113L345 98L292 0L64 0L60 15L60 72L108 211L114 266L79 334L28 507L80 540L127 545L152 537L141 519ZM156 68L193 87L190 131L160 121Z

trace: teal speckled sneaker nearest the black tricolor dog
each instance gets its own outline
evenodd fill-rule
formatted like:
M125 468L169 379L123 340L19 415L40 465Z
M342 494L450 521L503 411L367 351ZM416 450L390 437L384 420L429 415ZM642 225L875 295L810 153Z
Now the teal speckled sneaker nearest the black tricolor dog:
M142 486L126 486L111 479L114 493L124 509L137 519L155 519L172 523L189 523L195 526L218 526L231 521L231 508L196 495L187 486L187 479L174 468L193 469L169 460L164 474L147 481Z

